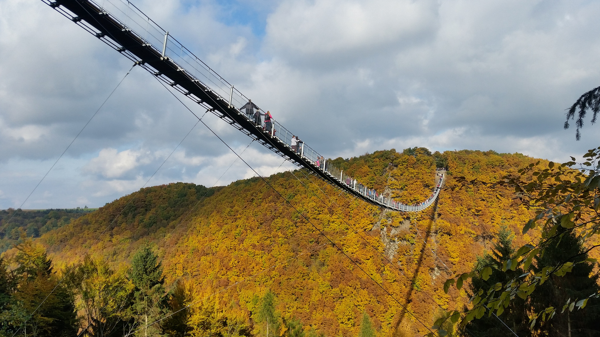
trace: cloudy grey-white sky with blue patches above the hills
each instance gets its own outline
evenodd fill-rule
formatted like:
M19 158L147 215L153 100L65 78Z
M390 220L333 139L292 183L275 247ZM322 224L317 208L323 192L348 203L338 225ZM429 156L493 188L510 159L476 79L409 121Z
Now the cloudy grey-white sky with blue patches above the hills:
M425 146L565 161L600 145L597 126L580 142L562 129L600 85L598 1L133 2L326 157ZM23 203L130 67L44 2L0 0L0 209ZM205 121L236 150L250 143ZM194 123L135 67L23 208L136 191ZM261 174L292 168L256 143L242 157ZM254 175L235 158L199 124L148 185Z

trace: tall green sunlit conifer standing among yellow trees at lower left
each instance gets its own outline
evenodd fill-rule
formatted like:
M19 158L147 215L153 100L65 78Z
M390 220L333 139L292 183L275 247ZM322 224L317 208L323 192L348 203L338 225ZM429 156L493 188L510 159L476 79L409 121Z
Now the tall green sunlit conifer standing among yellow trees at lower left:
M154 323L164 317L167 308L163 267L148 245L140 248L134 255L129 278L136 287L134 308L141 328L137 335L163 336L160 324Z

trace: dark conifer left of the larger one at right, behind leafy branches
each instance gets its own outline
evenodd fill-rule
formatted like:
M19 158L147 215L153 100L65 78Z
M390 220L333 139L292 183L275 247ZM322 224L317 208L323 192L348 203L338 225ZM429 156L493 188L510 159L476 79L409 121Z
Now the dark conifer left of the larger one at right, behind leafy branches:
M471 283L473 292L482 289L487 293L494 284L506 282L515 276L523 274L523 269L521 268L502 271L502 262L509 260L515 252L512 246L514 237L515 234L507 226L500 227L500 231L496 236L496 243L494 243L491 252L485 252L482 257L477 257L475 269L479 270L483 266L492 266L492 273L487 281L481 278L473 278ZM474 337L503 337L512 335L510 331L512 330L520 337L529 336L529 318L527 317L526 310L527 306L524 300L520 297L515 297L498 317L496 317L496 314L486 312L484 317L479 320L470 321L462 333L463 335Z

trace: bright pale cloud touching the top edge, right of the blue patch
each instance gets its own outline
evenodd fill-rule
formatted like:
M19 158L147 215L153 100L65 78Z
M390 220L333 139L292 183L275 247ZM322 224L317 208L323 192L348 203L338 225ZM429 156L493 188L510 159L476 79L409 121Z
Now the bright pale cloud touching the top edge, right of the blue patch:
M267 44L287 56L372 55L391 44L427 39L437 1L288 0L269 16Z

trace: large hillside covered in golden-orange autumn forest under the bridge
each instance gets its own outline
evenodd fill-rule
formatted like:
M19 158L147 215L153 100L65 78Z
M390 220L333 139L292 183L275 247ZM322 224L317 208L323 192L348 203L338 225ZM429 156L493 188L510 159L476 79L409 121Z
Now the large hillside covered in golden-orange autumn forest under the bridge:
M164 299L169 304L152 317L190 305L173 316L176 321L161 321L161 331L173 336L267 336L267 330L268 337L302 331L424 335L442 309L460 309L468 300L464 288L444 293L443 283L472 270L501 230L516 233L517 246L539 233L520 234L532 214L510 189L449 189L455 177L494 181L536 161L521 154L431 154L424 148L331 160L365 186L404 203L427 198L436 168L445 167L446 189L420 213L383 211L300 170L266 178L286 200L258 177L212 189L172 183L115 200L35 242L47 249L58 273L89 254L84 264L114 270L123 289L134 282L134 273L124 270L149 248L170 291ZM9 266L19 251L5 252ZM134 314L122 315L136 321Z

